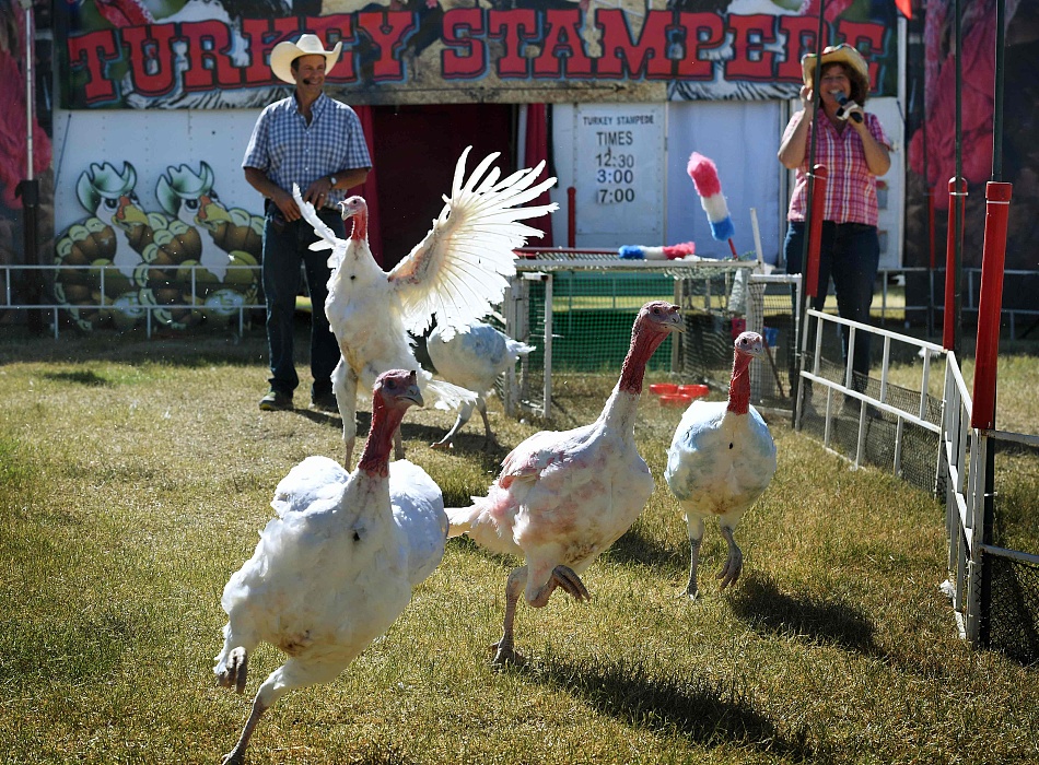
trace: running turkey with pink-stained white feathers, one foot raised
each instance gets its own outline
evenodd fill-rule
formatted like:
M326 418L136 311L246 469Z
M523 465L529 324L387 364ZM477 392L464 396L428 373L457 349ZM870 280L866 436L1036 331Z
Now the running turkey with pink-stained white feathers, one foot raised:
M505 457L486 497L447 509L452 537L467 533L480 546L526 561L505 585L493 663L522 661L513 640L520 593L534 608L546 605L557 587L579 601L588 599L581 573L642 513L653 493L653 476L634 439L645 367L664 339L681 330L678 306L646 303L598 419L572 431L534 434Z

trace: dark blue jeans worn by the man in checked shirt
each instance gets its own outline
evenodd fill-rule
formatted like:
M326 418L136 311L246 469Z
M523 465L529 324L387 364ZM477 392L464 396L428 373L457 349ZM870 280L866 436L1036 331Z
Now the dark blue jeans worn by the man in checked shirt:
M339 363L339 343L328 327L325 297L328 295L327 260L329 250L310 249L317 242L314 227L300 219L284 222L278 208L268 204L264 223L264 292L267 295L267 343L270 353L270 387L292 396L300 385L293 362L292 334L295 298L300 292L300 264L306 274L311 314L312 396L331 390L331 373ZM336 235L346 236L342 217L335 210L319 210L318 215Z

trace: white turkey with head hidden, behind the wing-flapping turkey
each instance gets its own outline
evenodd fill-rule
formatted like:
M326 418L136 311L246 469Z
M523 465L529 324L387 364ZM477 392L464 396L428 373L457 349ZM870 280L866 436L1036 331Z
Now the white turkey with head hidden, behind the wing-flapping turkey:
M534 351L534 345L513 340L489 323L474 321L458 330L437 325L427 338L425 350L437 375L477 393L476 409L483 417L483 448L495 445L498 442L487 419L487 397L494 390L498 378L513 368L520 356ZM458 408L455 424L433 444L434 448L452 447L458 431L472 416L472 408L468 401Z

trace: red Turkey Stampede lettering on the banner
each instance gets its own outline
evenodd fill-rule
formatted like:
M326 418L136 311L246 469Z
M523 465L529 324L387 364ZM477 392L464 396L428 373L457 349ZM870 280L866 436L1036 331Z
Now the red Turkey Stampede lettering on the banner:
M546 86L560 89L568 80L592 81L591 87L605 91L614 87L611 82L624 79L711 83L720 76L720 70L733 83L777 82L791 86L801 81L801 58L813 52L818 26L818 20L809 16L652 10L640 20L617 8L600 8L595 12L594 28L600 37L602 55L593 59L583 36L587 34L586 21L577 8L472 7L446 11L441 27L441 84L487 78L493 66L501 82L534 79L553 81ZM72 108L118 103L122 70L116 76L114 62L126 63L129 90L144 98L168 95L182 84L189 92L280 84L270 71L270 51L278 43L296 39L301 32L314 32L327 47L339 42L345 46L329 82L352 83L363 76L376 83L399 84L401 87L387 97L399 95L404 103L412 92L427 87L406 81L405 52L418 23L412 12L383 10L242 19L241 34L249 57L245 67L235 66L240 60L235 46L241 42L235 27L215 19L70 36L69 97ZM632 25L640 23L638 33L633 33ZM894 31L884 24L843 19L826 30L827 39L845 39L863 51L874 92L884 79L880 67L894 64L896 59L886 50L892 46L892 35ZM363 75L358 57L361 45L374 58L371 73L366 66ZM721 52L727 52L727 45L732 46L732 58ZM434 56L432 50L428 55ZM436 74L432 76L437 79ZM502 97L509 96L503 93ZM710 93L705 97L711 97Z

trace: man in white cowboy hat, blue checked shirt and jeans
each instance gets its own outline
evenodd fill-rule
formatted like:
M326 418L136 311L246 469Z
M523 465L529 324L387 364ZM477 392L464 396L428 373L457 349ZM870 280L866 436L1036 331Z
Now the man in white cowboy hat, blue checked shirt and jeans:
M326 50L317 35L311 34L275 46L270 68L295 90L260 114L242 162L245 179L264 195L267 212L264 291L270 390L260 399L262 410L291 409L292 393L300 384L292 332L303 263L312 305L311 403L337 411L330 378L339 362L339 345L325 317L328 254L310 249L317 237L292 198L292 185L299 185L303 199L314 205L326 225L339 237L346 236L337 203L348 189L364 183L372 160L357 113L324 93L325 76L339 59L341 48L342 43L337 43Z

